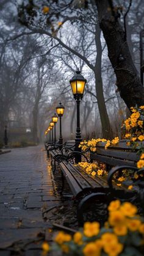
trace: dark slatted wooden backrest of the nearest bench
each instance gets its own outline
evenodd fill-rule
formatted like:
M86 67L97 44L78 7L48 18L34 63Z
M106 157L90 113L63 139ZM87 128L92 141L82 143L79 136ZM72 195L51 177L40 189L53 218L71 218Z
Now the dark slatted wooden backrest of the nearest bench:
M140 144L140 142L139 142ZM96 152L90 153L90 159L101 161L109 166L136 166L140 156L137 155L137 149L132 150L126 145L126 140L120 141L117 145L113 145L104 149L105 142L99 142L96 145ZM144 144L143 144L144 146Z

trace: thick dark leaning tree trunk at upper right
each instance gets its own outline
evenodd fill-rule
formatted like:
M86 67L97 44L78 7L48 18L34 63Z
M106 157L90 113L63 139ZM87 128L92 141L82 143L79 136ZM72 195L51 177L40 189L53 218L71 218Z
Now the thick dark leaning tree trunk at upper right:
M99 26L107 43L108 56L117 76L121 98L131 108L144 104L144 88L132 62L126 34L119 21L118 13L110 0L95 0L98 9ZM110 3L110 4L109 4Z

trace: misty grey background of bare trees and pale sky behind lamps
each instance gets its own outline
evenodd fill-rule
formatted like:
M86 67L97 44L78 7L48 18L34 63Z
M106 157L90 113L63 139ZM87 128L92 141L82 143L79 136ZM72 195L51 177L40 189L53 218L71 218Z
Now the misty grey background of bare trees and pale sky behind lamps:
M79 1L78 1L79 2ZM121 7L121 24L128 1L115 1ZM129 114L117 89L115 74L107 56L107 46L98 26L95 6L83 10L73 7L80 19L62 24L55 21L57 37L38 34L21 24L18 10L21 1L0 1L0 145L4 144L7 125L9 145L33 145L44 141L56 106L65 106L62 117L63 138L76 133L76 102L70 79L79 68L87 79L81 101L82 137L101 137L110 122L113 137L120 136L123 120ZM42 26L43 6L41 6ZM65 11L65 16L68 13ZM144 24L144 2L132 1L126 16L129 49L140 71L140 30ZM46 27L43 27L46 31ZM100 102L100 104L98 104ZM104 114L107 111L107 119ZM106 112L105 111L105 112ZM59 120L57 122L59 137Z

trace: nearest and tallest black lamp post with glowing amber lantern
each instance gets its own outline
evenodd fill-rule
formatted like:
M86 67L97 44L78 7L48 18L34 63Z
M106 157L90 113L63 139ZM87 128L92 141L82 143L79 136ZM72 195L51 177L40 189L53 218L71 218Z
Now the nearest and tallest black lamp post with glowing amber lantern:
M76 126L76 146L75 150L81 152L81 148L79 148L79 143L82 141L81 138L81 128L80 128L80 102L82 100L84 94L84 88L87 80L84 76L81 75L81 71L77 69L76 75L70 79L71 89L73 91L74 100L76 100L77 105L77 126ZM81 162L81 155L76 155L75 157L76 163Z

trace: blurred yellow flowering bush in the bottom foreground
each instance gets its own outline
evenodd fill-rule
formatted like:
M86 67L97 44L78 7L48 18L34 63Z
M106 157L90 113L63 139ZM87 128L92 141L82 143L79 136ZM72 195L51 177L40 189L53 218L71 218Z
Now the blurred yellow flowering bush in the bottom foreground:
M112 201L108 207L109 218L104 227L99 222L85 222L73 236L60 231L49 247L43 251L62 251L66 255L85 256L136 256L143 255L144 222L137 214L137 207L129 202Z

